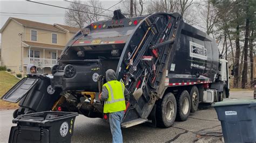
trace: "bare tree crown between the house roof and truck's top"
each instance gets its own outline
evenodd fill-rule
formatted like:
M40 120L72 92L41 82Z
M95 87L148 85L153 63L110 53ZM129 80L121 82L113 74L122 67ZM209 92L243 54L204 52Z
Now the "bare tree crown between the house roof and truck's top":
M103 6L99 0L90 0L84 4L81 1L74 1L70 3L69 8L73 10L66 11L65 23L69 26L84 28L87 24L99 20Z

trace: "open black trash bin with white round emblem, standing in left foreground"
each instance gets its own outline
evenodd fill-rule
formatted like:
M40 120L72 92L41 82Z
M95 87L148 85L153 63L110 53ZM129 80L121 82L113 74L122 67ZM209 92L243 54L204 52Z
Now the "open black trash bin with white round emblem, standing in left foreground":
M44 111L12 120L10 142L71 142L75 112Z

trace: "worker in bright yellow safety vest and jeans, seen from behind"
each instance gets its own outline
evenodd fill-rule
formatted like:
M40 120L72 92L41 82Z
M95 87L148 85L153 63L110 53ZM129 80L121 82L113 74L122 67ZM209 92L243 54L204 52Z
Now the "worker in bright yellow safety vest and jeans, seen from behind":
M124 117L126 103L129 102L129 91L124 83L117 81L116 72L106 71L106 83L103 85L99 98L104 101L103 112L109 114L112 142L123 142L121 122Z

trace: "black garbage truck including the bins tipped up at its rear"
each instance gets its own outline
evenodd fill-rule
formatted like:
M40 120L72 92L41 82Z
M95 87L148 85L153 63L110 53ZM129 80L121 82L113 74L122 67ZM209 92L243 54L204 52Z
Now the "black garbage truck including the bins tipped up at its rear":
M28 75L2 99L19 102L14 117L52 110L107 120L98 98L107 69L130 92L122 127L170 127L196 112L199 103L229 96L228 62L209 35L179 13L126 18L116 10L112 19L74 35L52 67L52 78ZM142 94L133 94L137 90Z

